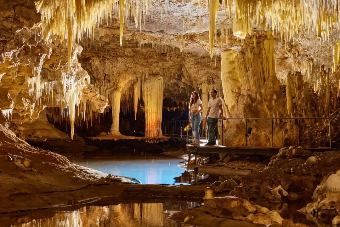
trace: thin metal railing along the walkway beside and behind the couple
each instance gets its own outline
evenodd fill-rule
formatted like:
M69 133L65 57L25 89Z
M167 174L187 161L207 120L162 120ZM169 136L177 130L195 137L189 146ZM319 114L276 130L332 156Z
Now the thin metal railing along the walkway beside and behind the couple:
M333 126L338 134L339 130L332 124L332 121L336 120L336 117L340 115L340 108L337 109L335 112L330 114L327 118L306 118L306 117L283 117L283 118L219 118L219 121L222 122L222 129L221 129L221 137L223 138L224 135L224 124L223 121L233 121L233 120L241 120L245 121L245 146L248 146L248 136L250 135L248 132L248 123L250 120L268 120L271 121L271 146L273 147L274 145L274 120L297 120L297 127L298 127L298 133L297 133L297 142L298 145L301 145L301 121L303 120L327 120L328 121L328 133L329 133L329 148L331 148L331 143L332 143L332 132L331 132L331 126ZM204 120L202 120L203 124L205 124ZM202 139L207 139L207 127L205 127L205 137L203 135L203 124L200 124L200 136ZM167 126L168 125L168 126ZM178 120L178 121L170 121L170 122L164 122L163 124L163 132L165 135L170 135L172 137L174 136L181 136L181 138L187 137L192 137L192 133L190 134L191 130L189 130L189 127L191 125L189 124L188 120ZM339 124L339 129L340 129L340 124ZM185 135L186 134L186 135ZM248 136L247 136L248 135ZM283 136L282 136L283 137ZM217 139L219 140L219 133L217 134ZM223 139L221 140L221 145L223 145Z

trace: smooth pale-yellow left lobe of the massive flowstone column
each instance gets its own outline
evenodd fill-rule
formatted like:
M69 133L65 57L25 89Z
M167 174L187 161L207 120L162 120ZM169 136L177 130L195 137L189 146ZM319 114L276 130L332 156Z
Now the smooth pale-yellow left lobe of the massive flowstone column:
M230 109L241 93L241 82L236 72L236 56L238 52L227 49L221 52L221 76L224 102Z

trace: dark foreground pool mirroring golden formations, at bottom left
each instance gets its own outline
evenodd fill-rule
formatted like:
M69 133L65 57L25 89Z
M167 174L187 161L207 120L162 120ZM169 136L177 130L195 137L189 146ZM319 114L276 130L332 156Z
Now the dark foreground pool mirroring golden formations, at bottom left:
M179 227L180 224L167 219L169 214L165 211L183 210L187 206L186 202L86 206L73 211L57 211L52 217L31 221L24 217L13 227Z

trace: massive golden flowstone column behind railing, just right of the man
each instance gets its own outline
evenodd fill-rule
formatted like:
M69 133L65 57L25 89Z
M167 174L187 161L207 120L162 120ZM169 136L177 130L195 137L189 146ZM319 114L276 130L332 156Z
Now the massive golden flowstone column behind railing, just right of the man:
M224 101L232 118L277 117L277 106L285 105L275 73L274 37L272 31L248 36L241 50L227 49L222 52L221 75ZM253 127L253 145L269 145L271 122L249 122ZM226 121L225 144L244 144L245 121ZM243 130L242 130L243 131ZM243 131L244 132L244 131ZM275 134L278 132L275 131ZM237 136L239 134L239 136ZM279 143L279 138L274 144ZM244 144L245 145L245 144Z

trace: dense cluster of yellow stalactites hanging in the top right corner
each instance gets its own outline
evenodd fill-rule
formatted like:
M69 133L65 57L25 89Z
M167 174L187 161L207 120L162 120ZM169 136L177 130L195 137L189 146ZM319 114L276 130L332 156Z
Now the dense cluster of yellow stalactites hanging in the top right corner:
M229 0L227 5L231 13L230 1L235 6L237 24L244 28L253 23L265 30L272 29L280 32L282 39L285 36L285 40L298 34L326 39L340 25L340 2L337 0Z

